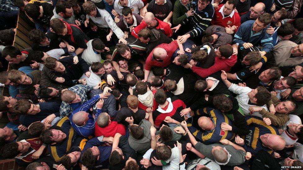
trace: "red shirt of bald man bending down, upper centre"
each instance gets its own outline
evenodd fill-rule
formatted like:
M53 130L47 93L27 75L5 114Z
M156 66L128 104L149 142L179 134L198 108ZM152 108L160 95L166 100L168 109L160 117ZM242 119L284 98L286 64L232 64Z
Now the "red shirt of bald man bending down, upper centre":
M157 61L152 56L152 53L154 51L154 50L152 50L152 52L148 55L148 57L146 59L145 68L144 68L145 70L151 70L152 67L155 67L155 66L156 67L167 67L168 65L170 65L170 63L172 63L172 61L170 60L171 56L179 48L177 40L171 41L169 44L163 43L156 47L160 47L160 48L163 48L164 50L166 50L168 56L163 60L163 62Z

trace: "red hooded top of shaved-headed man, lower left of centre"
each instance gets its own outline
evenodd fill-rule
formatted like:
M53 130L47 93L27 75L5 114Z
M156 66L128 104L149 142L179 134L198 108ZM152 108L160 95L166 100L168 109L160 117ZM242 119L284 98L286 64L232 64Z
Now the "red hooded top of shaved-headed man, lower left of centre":
M97 122L95 124L95 136L104 136L104 137L114 137L116 133L125 135L125 127L123 124L118 124L116 121L111 121L111 124L105 128L98 126Z

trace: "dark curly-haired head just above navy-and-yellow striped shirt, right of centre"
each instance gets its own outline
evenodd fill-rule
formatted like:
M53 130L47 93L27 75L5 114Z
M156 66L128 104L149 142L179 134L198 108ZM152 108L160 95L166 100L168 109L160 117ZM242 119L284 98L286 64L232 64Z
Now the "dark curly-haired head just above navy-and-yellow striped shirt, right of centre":
M215 95L213 98L214 106L221 112L226 113L233 108L233 102L225 94Z

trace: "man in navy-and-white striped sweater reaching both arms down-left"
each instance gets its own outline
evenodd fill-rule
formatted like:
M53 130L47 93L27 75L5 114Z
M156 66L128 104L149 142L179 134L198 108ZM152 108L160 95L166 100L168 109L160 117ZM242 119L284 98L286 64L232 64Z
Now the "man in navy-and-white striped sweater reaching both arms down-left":
M188 34L184 34L178 38L181 43L184 43L188 38L199 39L202 33L210 25L210 21L214 17L215 13L213 6L208 0L193 0L190 3L189 8L194 9L194 14L184 20L181 24L177 25L174 28L171 28L172 30L175 30L174 32L177 32L179 28L183 26L183 31L181 34L188 32L188 30L191 30ZM189 29L188 27L184 28L186 24L190 25ZM197 42L200 41L201 40L199 39Z

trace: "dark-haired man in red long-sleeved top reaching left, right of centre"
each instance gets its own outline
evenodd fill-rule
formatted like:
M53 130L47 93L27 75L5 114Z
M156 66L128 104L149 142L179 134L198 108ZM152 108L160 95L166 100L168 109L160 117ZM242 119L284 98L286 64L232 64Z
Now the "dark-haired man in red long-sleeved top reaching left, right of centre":
M229 44L225 44L218 47L218 50L215 51L215 54L215 63L210 68L197 67L197 62L193 60L191 60L190 63L184 65L183 67L191 68L194 73L205 78L220 70L229 72L233 65L235 65L235 63L237 62L237 55L232 55L233 47Z

